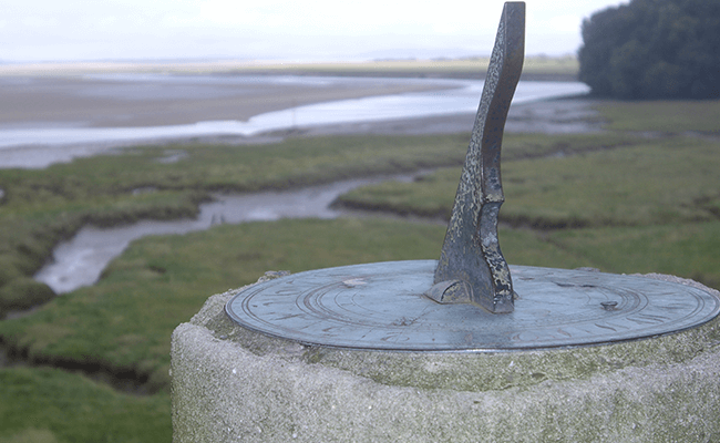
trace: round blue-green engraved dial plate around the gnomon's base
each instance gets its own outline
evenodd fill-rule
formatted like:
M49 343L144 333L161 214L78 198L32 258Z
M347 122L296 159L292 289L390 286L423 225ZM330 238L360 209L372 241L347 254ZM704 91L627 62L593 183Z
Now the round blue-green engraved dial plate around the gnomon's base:
M716 296L685 285L511 266L515 311L493 315L424 297L435 267L413 260L299 272L240 291L226 312L248 329L306 344L407 351L601 344L681 331L720 312Z

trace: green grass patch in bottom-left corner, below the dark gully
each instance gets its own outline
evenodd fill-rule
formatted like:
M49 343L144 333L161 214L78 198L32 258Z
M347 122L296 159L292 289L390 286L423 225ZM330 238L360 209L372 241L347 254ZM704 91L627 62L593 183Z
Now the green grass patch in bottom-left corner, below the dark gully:
M169 396L136 396L51 368L0 369L0 443L168 442Z

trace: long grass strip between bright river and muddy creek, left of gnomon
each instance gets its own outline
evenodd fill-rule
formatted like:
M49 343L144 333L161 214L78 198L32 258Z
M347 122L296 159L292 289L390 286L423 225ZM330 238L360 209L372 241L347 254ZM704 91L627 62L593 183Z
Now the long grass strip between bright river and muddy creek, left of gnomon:
M336 136L289 138L272 145L136 147L124 155L100 155L45 169L0 173L3 208L13 204L130 198L134 189L235 190L288 188L347 176L414 171L462 159L457 136ZM173 163L168 154L186 155ZM135 194L133 198L152 198ZM96 204L97 202L92 202Z

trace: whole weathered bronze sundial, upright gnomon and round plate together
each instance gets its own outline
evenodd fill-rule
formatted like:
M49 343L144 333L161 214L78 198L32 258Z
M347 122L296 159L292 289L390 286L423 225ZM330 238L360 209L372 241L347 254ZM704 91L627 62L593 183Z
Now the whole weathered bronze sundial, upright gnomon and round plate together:
M614 343L713 319L720 300L642 277L508 266L497 238L501 146L524 60L525 3L507 2L439 260L318 269L254 285L227 315L310 346L510 351Z

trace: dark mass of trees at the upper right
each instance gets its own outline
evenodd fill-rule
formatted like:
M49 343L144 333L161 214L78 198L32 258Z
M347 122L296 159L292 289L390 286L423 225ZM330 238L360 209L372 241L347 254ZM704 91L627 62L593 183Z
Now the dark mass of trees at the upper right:
M585 19L583 42L595 95L720 97L720 0L631 0Z

